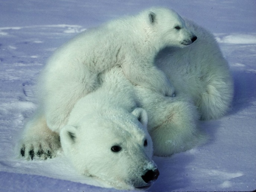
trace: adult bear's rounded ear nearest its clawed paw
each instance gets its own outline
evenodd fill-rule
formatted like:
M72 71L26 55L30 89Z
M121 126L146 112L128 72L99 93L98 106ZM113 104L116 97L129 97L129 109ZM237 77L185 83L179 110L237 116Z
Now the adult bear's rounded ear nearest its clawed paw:
M60 131L60 141L62 146L70 146L76 143L77 128L72 125L65 125ZM69 147L68 147L69 148Z

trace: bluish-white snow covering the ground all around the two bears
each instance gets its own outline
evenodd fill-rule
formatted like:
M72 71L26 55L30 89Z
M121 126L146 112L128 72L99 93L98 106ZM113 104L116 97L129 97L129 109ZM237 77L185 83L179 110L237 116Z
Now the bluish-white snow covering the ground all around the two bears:
M234 100L223 118L200 122L208 143L153 157L160 176L148 191L256 189L255 0L10 0L0 3L0 191L113 191L76 173L60 152L46 161L17 157L24 122L36 109L36 77L77 33L150 6L166 6L214 33L230 64Z

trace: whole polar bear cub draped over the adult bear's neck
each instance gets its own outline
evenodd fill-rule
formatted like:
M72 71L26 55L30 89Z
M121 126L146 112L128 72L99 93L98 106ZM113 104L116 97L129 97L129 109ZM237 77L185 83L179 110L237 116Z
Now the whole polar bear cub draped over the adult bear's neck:
M59 132L76 101L97 89L100 73L116 65L133 84L172 96L174 88L154 58L164 47L186 47L195 40L184 20L165 8L147 9L81 33L58 48L41 73L40 107L47 125Z

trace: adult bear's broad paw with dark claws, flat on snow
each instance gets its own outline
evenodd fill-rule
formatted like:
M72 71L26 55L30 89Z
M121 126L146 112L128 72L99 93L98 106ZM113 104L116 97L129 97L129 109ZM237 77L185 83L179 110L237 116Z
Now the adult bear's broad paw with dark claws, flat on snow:
M57 133L45 136L24 138L20 145L20 156L27 160L45 160L55 157L61 146L60 137Z

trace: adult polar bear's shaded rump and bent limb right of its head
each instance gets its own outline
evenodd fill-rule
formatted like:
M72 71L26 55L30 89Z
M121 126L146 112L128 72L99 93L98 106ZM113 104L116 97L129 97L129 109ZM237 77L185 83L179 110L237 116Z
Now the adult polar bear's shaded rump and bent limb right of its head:
M145 87L135 88L140 107L149 117L148 131L157 156L205 143L207 137L196 121L220 118L233 99L233 79L214 36L188 19L185 23L198 39L185 48L163 49L155 61L175 87L175 97L166 99Z

